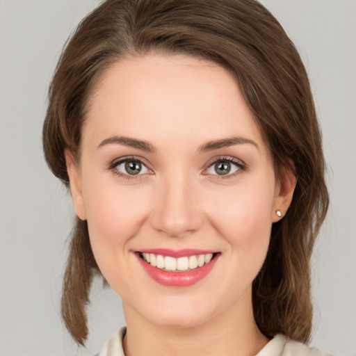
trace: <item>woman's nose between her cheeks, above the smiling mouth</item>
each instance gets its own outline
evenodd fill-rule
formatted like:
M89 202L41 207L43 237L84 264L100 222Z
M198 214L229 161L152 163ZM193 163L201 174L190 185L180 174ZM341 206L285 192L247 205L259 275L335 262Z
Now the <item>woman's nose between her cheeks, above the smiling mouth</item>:
M154 190L151 224L170 237L193 234L202 225L199 192L189 177L167 177Z

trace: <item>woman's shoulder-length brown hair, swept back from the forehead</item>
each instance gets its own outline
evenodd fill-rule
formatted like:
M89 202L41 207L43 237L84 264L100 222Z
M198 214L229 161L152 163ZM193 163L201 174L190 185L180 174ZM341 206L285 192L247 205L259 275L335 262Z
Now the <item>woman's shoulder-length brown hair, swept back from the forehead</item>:
M186 54L225 67L238 81L272 152L275 169L297 178L288 213L273 224L270 247L252 286L261 332L307 342L312 330L310 266L328 194L321 132L298 51L282 26L254 0L107 0L79 24L49 88L44 154L68 186L64 151L80 156L92 88L120 58L152 51ZM77 220L63 282L62 316L83 345L95 263L86 221Z

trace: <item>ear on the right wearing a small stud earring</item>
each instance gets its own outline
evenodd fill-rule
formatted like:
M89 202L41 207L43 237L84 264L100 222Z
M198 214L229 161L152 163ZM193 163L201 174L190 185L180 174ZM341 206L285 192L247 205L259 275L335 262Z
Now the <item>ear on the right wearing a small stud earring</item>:
M296 188L296 176L290 168L282 168L280 177L275 185L275 197L273 199L273 207L271 211L272 222L275 223L283 216L291 205L293 199L294 188ZM277 214L280 211L280 215Z

